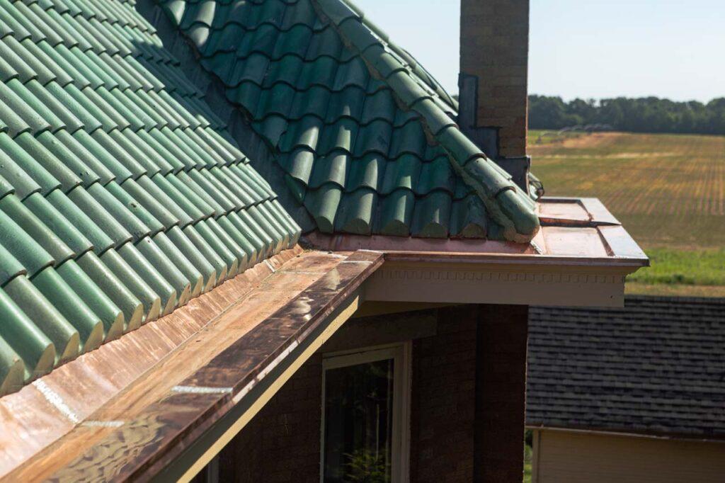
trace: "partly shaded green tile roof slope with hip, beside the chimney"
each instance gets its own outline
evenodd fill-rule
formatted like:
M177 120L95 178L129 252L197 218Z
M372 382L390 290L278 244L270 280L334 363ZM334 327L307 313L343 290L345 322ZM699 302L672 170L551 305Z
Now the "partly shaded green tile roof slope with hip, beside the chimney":
M324 233L529 241L535 204L426 70L341 0L157 0ZM307 228L307 227L306 227Z

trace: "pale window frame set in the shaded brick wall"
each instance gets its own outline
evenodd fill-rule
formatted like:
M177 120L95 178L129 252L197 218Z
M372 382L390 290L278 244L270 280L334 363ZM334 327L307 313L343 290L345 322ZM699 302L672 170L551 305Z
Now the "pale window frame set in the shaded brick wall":
M322 424L320 427L320 483L325 478L325 386L328 369L357 366L392 359L393 363L393 427L392 483L410 482L410 378L413 344L388 344L362 349L331 352L322 361Z

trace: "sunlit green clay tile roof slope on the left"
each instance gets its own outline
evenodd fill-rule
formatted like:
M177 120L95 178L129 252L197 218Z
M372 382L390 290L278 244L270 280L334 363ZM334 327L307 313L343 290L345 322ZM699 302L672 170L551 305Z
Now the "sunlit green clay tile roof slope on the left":
M0 0L0 395L299 231L133 1Z

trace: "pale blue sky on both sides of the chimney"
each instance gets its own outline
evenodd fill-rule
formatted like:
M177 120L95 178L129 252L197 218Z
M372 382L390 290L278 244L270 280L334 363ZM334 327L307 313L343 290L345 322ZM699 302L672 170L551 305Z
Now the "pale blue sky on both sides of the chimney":
M457 91L460 0L357 0ZM531 0L529 92L725 96L725 0Z

